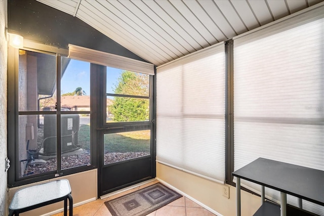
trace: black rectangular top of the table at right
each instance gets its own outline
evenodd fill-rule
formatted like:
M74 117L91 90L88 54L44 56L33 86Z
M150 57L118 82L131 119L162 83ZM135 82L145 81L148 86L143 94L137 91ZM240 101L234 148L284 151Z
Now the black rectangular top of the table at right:
M233 176L324 205L324 171L258 158Z

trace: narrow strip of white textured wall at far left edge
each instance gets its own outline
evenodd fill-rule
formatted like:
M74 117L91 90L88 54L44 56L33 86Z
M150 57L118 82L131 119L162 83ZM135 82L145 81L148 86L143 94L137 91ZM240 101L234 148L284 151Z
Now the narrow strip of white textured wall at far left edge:
M0 0L0 215L7 214L7 0Z

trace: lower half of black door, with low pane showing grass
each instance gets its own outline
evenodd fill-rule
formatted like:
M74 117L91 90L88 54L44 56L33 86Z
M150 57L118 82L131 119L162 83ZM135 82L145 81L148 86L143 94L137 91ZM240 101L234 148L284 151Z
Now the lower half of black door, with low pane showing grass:
M102 133L100 196L155 177L150 127L120 127Z

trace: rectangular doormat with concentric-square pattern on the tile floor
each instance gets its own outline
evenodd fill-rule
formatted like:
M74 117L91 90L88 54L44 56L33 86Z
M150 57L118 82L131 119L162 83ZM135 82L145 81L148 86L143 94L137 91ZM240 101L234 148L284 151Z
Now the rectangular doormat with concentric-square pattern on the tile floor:
M113 216L144 216L182 195L161 183L109 200L105 205Z

